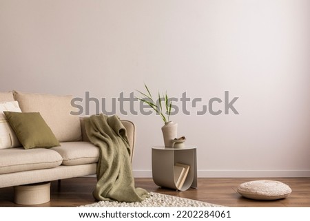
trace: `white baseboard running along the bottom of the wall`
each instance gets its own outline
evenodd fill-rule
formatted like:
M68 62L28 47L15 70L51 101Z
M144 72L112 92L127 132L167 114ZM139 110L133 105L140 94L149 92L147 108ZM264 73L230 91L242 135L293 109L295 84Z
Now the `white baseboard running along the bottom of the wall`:
M310 169L297 170L198 170L198 178L294 178L310 177ZM134 170L135 178L152 178L151 170Z

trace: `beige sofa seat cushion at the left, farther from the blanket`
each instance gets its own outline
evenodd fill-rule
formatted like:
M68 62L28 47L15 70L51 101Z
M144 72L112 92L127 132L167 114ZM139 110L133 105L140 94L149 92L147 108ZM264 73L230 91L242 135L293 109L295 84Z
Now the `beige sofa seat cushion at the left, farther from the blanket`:
M63 158L51 149L1 149L0 174L57 167L62 161Z

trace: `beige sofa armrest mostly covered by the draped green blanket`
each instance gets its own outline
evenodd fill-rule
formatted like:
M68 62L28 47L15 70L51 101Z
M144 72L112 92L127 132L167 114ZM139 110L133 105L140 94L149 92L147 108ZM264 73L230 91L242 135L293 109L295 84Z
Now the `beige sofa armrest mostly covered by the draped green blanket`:
M84 118L81 117L81 130L82 130L82 140L83 141L90 141L89 138L87 137L86 131L85 131L85 124L84 124ZM130 160L132 162L132 158L134 156L134 145L136 142L136 126L134 123L130 120L121 120L121 123L123 123L124 127L126 128L127 131L127 137L128 141L130 143L130 149L131 149L131 155L130 155Z

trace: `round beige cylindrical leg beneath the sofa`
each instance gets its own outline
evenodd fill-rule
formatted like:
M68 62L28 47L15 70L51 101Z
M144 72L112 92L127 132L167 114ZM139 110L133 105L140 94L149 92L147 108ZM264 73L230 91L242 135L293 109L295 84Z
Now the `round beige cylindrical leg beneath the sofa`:
M50 182L14 187L14 202L23 205L42 204L50 201Z

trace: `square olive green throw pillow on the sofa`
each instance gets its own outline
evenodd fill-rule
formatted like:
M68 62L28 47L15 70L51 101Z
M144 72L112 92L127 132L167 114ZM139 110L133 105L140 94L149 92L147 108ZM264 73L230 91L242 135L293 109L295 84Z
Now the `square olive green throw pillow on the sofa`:
M59 146L59 141L39 112L3 112L25 149Z

